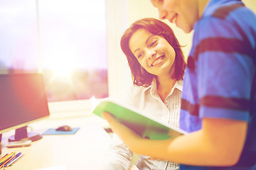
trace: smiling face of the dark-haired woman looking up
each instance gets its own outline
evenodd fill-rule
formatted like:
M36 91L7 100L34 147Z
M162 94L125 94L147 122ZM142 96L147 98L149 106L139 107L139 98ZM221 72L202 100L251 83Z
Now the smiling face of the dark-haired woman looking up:
M148 30L137 30L129 40L129 47L134 56L147 72L156 76L174 73L174 48L159 35L153 35Z

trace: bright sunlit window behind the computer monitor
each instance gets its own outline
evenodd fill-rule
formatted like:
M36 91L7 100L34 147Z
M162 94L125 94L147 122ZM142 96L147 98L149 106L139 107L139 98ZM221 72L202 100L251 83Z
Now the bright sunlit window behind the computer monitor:
M43 72L48 101L108 96L105 0L0 4L0 74Z

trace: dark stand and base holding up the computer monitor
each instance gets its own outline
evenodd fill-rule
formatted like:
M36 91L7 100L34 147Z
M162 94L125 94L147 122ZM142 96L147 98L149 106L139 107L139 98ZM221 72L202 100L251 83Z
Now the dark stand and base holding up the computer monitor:
M15 135L9 137L9 142L15 142L15 141L21 141L21 140L31 140L36 141L36 140L41 140L42 135L29 132L27 130L28 126L24 126L22 128L18 128L15 130Z

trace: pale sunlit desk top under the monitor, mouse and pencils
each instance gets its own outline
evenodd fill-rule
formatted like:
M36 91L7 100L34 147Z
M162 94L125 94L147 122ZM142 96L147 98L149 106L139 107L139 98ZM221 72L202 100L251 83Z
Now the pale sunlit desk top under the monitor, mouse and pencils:
M6 170L35 170L58 165L65 165L66 170L97 170L111 140L97 125L82 126L75 135L43 135L43 139L32 142L30 147L6 148L8 137L8 133L4 133L1 157L10 152L22 152L24 156Z

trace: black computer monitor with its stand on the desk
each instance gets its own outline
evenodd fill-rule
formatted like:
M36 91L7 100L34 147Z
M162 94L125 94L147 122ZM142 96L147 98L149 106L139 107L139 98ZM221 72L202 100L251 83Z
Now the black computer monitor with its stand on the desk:
M49 115L43 74L0 74L0 134L15 129L9 142L40 140L27 126Z

